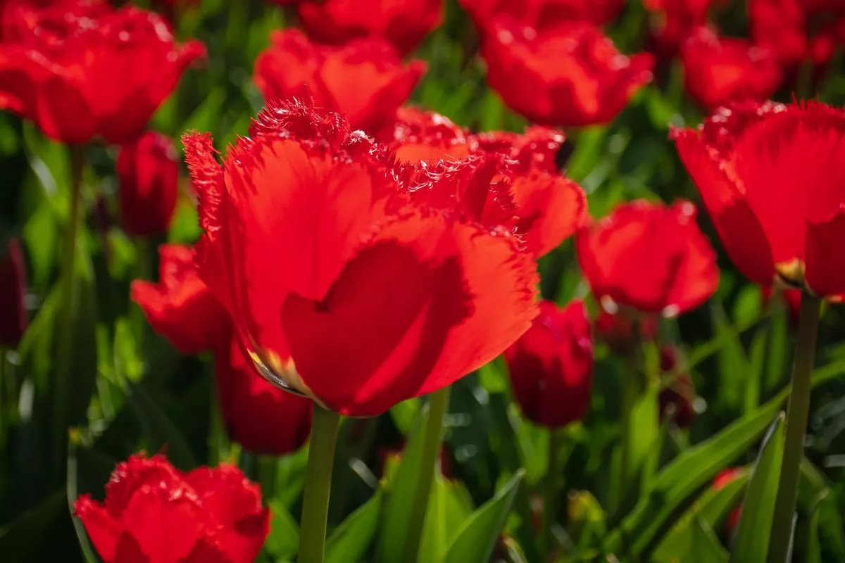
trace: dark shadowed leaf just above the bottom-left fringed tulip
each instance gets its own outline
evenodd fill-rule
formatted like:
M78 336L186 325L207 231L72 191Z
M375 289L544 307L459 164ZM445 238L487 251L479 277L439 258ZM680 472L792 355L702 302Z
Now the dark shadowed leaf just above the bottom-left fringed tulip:
M144 430L150 451L166 452L167 459L185 471L197 466L182 432L150 396L150 392L140 384L129 382L127 400Z

